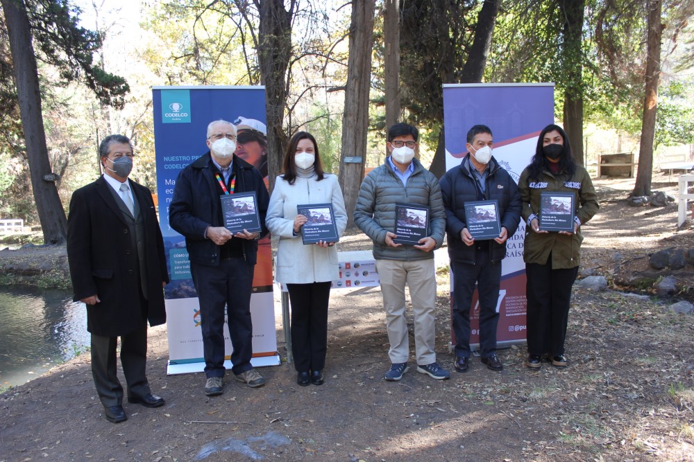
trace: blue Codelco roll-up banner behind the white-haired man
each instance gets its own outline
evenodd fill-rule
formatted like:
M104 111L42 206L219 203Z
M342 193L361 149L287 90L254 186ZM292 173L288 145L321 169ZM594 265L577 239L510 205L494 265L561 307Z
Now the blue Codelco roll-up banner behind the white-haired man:
M180 170L208 152L208 124L223 119L252 133L237 155L267 177L264 87L153 87L154 137L157 163L159 221L167 252L169 283L164 288L169 337L169 374L201 372L205 367L200 310L185 238L169 226L169 204ZM250 121L250 122L249 122ZM239 143L240 144L240 143ZM253 366L280 364L273 307L272 255L269 236L260 241L253 279ZM232 345L228 329L226 368Z

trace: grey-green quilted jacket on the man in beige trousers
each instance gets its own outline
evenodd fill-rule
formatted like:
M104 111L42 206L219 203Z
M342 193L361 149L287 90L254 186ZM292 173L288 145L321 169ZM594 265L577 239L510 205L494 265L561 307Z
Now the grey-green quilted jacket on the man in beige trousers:
M443 210L441 188L437 178L413 159L414 172L403 186L393 172L388 159L382 166L366 175L359 188L359 198L354 211L354 222L359 229L373 240L373 258L376 260L427 260L434 258L434 252L415 249L411 245L388 247L386 233L395 229L395 204L425 205L429 207L430 236L441 247L446 232L446 211Z

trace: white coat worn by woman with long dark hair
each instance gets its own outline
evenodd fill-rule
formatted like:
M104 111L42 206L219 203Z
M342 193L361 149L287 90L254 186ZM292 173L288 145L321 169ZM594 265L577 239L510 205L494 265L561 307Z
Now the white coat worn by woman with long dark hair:
M282 175L275 180L265 223L273 236L280 236L275 268L275 278L280 283L310 284L339 278L337 246L304 245L301 233L293 233L298 204L328 203L332 204L337 235L341 237L347 226L347 213L336 175L324 173L321 181L315 175L296 177L293 185Z

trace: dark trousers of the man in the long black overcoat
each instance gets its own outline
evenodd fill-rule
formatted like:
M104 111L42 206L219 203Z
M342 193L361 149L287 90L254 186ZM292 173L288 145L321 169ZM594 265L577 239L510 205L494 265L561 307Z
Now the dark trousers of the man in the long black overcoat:
M118 337L92 334L92 377L99 400L105 407L123 404L123 387L117 371ZM121 365L126 376L128 396L150 393L146 376L147 323L127 335L121 335Z

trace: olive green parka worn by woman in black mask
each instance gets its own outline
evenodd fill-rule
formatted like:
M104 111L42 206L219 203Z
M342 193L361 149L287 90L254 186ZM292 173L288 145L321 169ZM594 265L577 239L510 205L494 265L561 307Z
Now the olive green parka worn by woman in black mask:
M530 221L539 217L540 194L546 191L574 193L574 204L577 205L575 215L584 224L598 212L598 196L593 188L591 177L582 166L577 165L572 177L566 174L553 174L543 170L537 179L530 178L530 167L526 167L518 180L518 191L523 201L521 216L525 222L525 263L547 264L552 254L552 268L574 268L581 263L581 243L583 236L579 227L578 232L570 236L557 232L536 233L530 229Z

